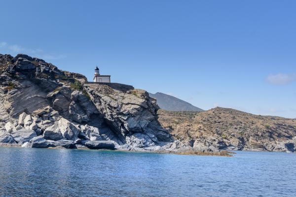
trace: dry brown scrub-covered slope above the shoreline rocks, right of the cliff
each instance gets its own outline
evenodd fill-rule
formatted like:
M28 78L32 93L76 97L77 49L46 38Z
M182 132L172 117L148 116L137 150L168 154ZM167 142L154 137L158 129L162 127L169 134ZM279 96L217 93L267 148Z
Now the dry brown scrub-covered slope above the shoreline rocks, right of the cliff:
M293 119L260 116L242 111L217 107L203 112L158 111L161 125L180 141L216 138L233 142L244 137L264 144L273 140L288 140L296 136Z

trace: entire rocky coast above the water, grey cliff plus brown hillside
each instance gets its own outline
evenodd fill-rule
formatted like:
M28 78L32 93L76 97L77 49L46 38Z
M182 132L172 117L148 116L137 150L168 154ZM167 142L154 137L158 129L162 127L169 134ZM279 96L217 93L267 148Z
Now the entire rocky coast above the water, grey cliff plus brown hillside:
M0 54L0 146L212 155L296 151L292 120L270 118L272 124L261 127L264 117L255 117L257 124L236 112L192 113L159 110L146 91L129 85L88 82L38 58Z

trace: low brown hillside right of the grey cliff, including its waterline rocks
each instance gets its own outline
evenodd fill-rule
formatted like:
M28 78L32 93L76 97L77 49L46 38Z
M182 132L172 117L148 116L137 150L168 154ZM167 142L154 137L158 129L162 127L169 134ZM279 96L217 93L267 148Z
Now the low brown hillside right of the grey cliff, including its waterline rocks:
M296 120L216 107L203 112L158 110L159 122L175 139L197 150L296 152Z

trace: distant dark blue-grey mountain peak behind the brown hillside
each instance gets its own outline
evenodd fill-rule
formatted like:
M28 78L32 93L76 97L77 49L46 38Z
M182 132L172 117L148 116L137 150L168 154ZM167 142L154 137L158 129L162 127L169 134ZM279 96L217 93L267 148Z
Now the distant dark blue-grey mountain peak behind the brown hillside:
M149 93L149 96L157 100L156 103L161 109L167 111L204 111L184 100L163 93Z

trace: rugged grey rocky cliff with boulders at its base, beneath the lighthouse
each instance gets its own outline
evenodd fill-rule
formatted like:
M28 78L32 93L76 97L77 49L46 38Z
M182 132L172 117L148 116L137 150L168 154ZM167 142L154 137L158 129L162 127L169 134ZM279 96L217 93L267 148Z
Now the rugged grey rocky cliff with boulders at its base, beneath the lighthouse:
M0 55L0 143L25 147L176 149L144 90L88 83L43 60Z

